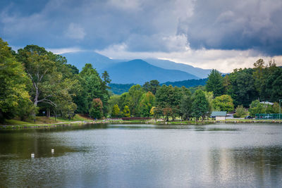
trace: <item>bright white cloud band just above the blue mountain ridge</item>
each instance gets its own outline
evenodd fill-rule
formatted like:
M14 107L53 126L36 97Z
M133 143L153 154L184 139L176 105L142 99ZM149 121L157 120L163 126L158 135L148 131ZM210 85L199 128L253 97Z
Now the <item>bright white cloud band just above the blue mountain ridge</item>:
M126 50L125 44L115 44L102 51L97 51L104 56L121 59L134 58L159 58L185 63L198 68L215 68L223 73L231 73L235 68L252 68L253 63L259 58L263 58L267 63L271 58L277 65L282 65L282 56L263 56L254 50L219 50L219 49L199 49L186 48L185 51L175 52L131 52Z

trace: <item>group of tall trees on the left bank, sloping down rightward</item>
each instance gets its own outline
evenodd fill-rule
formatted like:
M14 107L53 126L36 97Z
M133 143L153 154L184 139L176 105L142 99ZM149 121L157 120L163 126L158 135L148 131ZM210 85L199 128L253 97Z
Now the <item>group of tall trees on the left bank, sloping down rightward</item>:
M0 121L20 120L39 113L72 118L85 113L102 118L108 113L109 74L91 64L78 68L43 47L27 45L13 51L0 38Z

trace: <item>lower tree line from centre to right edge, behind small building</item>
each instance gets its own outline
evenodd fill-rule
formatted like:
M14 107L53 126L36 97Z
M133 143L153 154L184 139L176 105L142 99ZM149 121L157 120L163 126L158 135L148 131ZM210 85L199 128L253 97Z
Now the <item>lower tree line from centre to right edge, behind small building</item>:
M111 96L109 106L112 117L203 120L212 111L235 111L234 116L238 118L256 113L278 113L278 99L282 99L282 68L272 60L265 65L259 59L254 68L235 69L228 75L213 69L205 86L173 87L160 85L157 80L145 82L143 86L133 85L128 92Z

